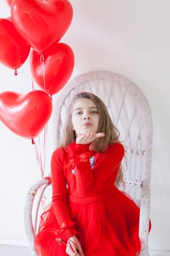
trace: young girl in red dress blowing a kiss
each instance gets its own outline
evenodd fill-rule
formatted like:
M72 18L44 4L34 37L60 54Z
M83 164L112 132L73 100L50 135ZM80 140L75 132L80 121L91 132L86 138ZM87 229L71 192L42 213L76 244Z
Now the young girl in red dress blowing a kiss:
M78 94L51 160L53 203L42 215L37 255L139 255L139 208L115 186L123 155L104 102Z

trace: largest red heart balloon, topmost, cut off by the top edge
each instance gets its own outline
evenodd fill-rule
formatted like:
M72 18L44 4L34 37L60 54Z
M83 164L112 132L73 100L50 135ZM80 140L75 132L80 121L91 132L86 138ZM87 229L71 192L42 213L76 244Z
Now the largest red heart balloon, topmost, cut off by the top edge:
M14 0L12 21L34 50L42 52L58 42L72 21L67 0Z

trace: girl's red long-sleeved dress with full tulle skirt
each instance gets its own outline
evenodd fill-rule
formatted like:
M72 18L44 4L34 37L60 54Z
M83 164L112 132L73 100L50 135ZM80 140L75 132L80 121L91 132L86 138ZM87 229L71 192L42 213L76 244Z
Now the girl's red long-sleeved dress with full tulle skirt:
M53 203L42 215L37 255L66 256L75 234L85 256L139 255L139 208L114 185L123 155L120 143L101 153L75 142L54 151Z

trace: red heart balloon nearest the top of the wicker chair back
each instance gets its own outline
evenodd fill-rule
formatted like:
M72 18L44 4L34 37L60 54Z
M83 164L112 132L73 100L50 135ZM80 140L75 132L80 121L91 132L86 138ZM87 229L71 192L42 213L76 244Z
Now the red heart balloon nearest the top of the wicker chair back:
M31 73L36 83L47 92L56 94L69 80L74 68L74 53L69 45L54 43L42 54L30 54Z

